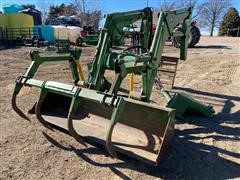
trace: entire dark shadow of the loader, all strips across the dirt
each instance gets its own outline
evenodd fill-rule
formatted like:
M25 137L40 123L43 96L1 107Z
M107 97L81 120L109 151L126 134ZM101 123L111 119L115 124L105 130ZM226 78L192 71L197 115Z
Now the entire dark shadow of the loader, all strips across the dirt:
M181 90L227 100L222 112L217 113L212 119L193 116L188 117L184 121L177 120L176 124L194 124L195 128L175 130L175 137L169 153L157 167L146 165L121 154L119 158L122 162L99 163L89 158L88 154L108 156L104 149L96 147L85 149L76 149L73 146L65 147L48 134L43 134L46 139L56 147L76 153L78 157L91 165L109 168L122 179L131 179L131 177L124 174L121 169L131 169L163 179L231 179L240 177L240 163L224 158L224 156L227 156L234 159L240 159L240 154L214 145L218 143L219 140L223 143L224 141L240 141L239 128L222 125L223 122L232 125L240 124L240 111L233 114L230 113L231 108L234 106L232 101L240 102L240 98L201 92L189 88L181 88ZM199 134L201 134L201 137ZM212 144L208 145L203 142L207 138L212 139ZM193 142L193 140L199 141L197 143Z

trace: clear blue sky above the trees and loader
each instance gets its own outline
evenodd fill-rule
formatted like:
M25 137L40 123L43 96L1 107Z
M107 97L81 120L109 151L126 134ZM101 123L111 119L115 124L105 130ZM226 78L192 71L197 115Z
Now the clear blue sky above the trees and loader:
M35 4L38 9L41 10L41 5L59 5L61 3L69 4L73 0L0 0L0 10L4 4ZM175 2L178 0L168 0ZM198 0L201 2L202 0ZM90 2L89 6L101 8L102 12L121 12L128 10L141 9L147 6L149 7L159 7L161 0L88 0ZM240 0L232 0L232 6L235 7L238 12L240 12ZM215 31L217 32L217 31ZM202 34L208 34L206 30L202 30Z

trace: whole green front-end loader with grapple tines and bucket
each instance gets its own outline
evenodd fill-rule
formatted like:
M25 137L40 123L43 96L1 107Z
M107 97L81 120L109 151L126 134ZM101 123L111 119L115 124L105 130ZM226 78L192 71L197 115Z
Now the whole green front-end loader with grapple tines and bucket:
M84 80L78 61L81 50L70 47L50 54L32 51L31 66L16 79L13 109L29 120L16 104L17 95L23 86L40 88L39 100L30 112L35 113L46 128L67 130L85 146L86 139L103 144L112 157L121 152L157 165L173 139L177 107L150 104L151 92L164 43L174 35L173 30L180 22L183 23L180 59L186 59L191 12L191 8L161 12L153 39L150 8L107 14L96 54L88 64L87 80ZM122 52L114 51L118 48L119 37L124 36L123 27L139 20L140 44ZM34 79L38 67L47 61L68 61L73 83ZM106 78L107 70L115 74L112 82ZM127 75L141 77L141 91L137 96L131 96L132 88L122 87Z

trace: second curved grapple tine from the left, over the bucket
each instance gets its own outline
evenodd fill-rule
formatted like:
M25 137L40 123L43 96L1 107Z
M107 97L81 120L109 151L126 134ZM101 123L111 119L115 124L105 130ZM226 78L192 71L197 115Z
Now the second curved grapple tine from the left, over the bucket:
M47 123L47 121L45 121L45 119L42 117L41 115L41 107L42 107L42 103L45 99L45 97L47 96L47 91L45 91L44 89L42 89L40 97L36 103L36 109L35 109L35 114L37 117L37 120L46 128L50 129L53 131L53 128L51 127L51 125L49 123Z

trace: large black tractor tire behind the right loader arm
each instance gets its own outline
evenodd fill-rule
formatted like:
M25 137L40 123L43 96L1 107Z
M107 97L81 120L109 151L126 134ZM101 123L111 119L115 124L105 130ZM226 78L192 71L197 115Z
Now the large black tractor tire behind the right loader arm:
M175 29L176 31L181 30L180 27ZM189 39L188 39L188 47L193 48L200 40L201 33L200 30L196 26L192 26L190 29ZM172 44L176 48L180 48L180 37L173 37Z

